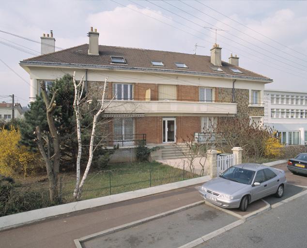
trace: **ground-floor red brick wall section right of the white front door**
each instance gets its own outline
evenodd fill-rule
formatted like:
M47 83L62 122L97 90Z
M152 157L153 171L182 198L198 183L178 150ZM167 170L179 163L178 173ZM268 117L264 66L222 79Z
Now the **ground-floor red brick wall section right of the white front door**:
M187 137L192 138L194 133L200 132L200 116L178 116L176 117L178 142L182 142Z

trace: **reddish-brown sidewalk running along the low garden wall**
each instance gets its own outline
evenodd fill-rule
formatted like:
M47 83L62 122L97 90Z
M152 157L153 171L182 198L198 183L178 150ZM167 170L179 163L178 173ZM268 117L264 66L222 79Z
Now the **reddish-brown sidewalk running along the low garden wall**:
M0 247L76 248L74 239L201 200L195 186L188 186L83 210L0 232Z

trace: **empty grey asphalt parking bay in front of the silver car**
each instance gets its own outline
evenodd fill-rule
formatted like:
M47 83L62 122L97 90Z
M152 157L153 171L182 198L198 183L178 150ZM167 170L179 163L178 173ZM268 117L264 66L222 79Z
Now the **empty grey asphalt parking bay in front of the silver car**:
M97 237L84 248L177 248L238 218L202 204L123 231Z

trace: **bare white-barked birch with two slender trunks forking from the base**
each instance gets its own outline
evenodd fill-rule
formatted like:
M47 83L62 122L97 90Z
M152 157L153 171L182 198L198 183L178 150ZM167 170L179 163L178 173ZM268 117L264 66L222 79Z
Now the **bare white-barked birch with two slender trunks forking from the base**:
M77 119L78 155L77 155L77 166L76 166L77 167L77 180L76 180L76 186L75 186L73 196L75 199L79 200L81 197L82 187L91 169L93 153L95 149L97 148L97 145L99 145L99 144L96 144L96 145L94 144L95 132L96 132L97 124L98 124L98 118L101 115L101 113L103 113L109 107L109 105L111 104L115 96L113 96L113 98L107 104L105 103L106 89L107 89L107 77L106 77L102 97L99 100L100 108L98 109L96 114L94 114L93 120L92 120L92 132L91 132L91 139L90 139L90 144L89 144L89 157L88 157L88 161L87 161L87 165L86 165L83 177L81 179L80 160L81 160L81 154L82 154L82 137L81 137L81 124L80 124L81 123L80 122L80 118L81 118L80 104L81 102L84 101L85 98L82 98L82 93L84 89L83 77L80 80L80 82L77 84L75 76L76 76L76 72L74 72L73 82L74 82L74 87L75 87L74 109L75 109L76 119Z

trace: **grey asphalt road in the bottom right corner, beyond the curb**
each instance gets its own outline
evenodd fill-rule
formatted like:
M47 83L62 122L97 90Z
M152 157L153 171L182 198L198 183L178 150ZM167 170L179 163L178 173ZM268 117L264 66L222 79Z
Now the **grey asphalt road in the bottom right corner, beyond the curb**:
M307 195L208 240L197 248L306 248Z

